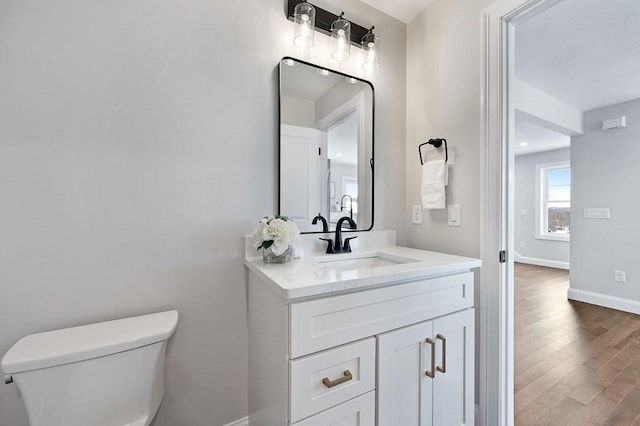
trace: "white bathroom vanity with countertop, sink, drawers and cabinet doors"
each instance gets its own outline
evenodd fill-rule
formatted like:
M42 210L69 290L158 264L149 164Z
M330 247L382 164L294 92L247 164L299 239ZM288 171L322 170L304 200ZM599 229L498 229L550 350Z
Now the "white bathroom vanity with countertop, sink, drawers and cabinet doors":
M357 235L283 265L247 241L249 424L472 425L480 260Z

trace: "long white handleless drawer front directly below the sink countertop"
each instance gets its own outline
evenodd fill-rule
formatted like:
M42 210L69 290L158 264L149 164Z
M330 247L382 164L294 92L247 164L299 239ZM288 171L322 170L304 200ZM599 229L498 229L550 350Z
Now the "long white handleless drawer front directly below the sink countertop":
M473 273L391 285L290 305L296 358L473 306Z

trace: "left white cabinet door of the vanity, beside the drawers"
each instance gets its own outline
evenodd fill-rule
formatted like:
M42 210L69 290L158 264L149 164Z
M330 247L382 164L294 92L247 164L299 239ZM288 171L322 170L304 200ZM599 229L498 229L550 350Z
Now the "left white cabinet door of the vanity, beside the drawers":
M431 335L426 321L378 336L378 426L432 424Z

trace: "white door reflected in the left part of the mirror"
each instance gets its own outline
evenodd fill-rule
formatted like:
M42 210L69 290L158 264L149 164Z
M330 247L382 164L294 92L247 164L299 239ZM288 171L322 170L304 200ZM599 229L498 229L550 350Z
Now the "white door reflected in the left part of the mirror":
M301 231L318 230L311 221L322 211L320 131L282 125L281 132L280 214Z

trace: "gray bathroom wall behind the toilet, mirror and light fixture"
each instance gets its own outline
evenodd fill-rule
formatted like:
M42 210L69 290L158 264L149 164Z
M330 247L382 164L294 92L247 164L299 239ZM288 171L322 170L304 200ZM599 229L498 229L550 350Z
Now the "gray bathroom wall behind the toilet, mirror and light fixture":
M384 35L368 76L358 55L330 63L323 35L303 59L373 81L376 229L401 228L406 26L318 3ZM0 3L0 353L34 332L178 309L157 426L247 414L242 235L276 211L276 67L301 53L284 0L239 6ZM27 424L16 386L0 386L0 413Z

